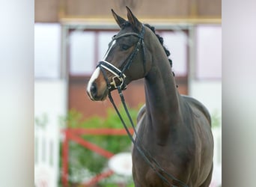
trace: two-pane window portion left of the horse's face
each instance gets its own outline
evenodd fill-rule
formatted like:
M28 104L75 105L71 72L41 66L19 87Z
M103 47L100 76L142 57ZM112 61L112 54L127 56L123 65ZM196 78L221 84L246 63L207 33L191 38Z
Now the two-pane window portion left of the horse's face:
M70 34L70 75L90 76L105 55L118 31L72 31Z

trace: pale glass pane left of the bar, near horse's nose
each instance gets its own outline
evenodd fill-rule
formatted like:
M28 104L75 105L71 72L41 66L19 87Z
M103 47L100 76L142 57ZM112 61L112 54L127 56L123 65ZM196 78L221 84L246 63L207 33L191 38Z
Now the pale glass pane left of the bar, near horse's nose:
M90 75L95 69L95 33L73 31L70 34L70 74Z

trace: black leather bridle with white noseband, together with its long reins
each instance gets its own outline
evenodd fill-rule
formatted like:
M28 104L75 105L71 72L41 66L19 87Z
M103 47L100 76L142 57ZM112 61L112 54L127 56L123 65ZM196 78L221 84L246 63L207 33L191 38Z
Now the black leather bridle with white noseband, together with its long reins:
M126 105L126 102L125 102L125 99L124 99L124 95L122 93L122 91L124 91L127 88L127 85L125 84L126 76L124 74L124 71L129 69L130 65L132 64L133 58L135 58L135 55L137 55L138 51L142 48L143 64L144 64L143 67L144 67L144 74L145 74L144 25L142 25L141 32L139 34L137 34L135 32L132 32L132 33L121 34L120 36L114 36L112 38L111 43L110 43L110 46L112 46L112 43L113 43L114 40L118 40L118 38L132 36L132 35L135 36L135 37L138 37L138 42L137 42L137 44L135 46L135 49L133 49L132 53L124 61L125 64L124 64L124 67L122 68L122 70L119 70L117 67L115 67L113 64L110 64L106 60L100 61L99 64L97 65L97 67L100 67L100 70L103 73L104 79L106 80L106 84L107 84L107 87L109 89L109 100L110 100L110 102L112 102L112 105L114 106L115 111L118 114L118 117L121 119L121 122L124 125L124 129L126 129L127 135L129 136L130 140L132 141L132 144L134 144L134 147L138 150L138 153L141 154L142 158L144 159L145 162L147 162L147 164L150 166L150 168L152 168L153 171L155 171L156 174L165 183L167 183L169 186L177 187L177 186L172 185L166 179L166 177L168 177L171 180L176 181L177 183L180 183L180 186L189 187L185 183L183 183L182 181L177 180L173 175L168 174L168 172L165 171L159 165L159 163L156 161L156 159L154 159L153 156L151 156L151 154L147 150L144 149L144 147L141 145L141 139L138 137L138 134L136 132L134 123L132 121L132 117L129 114L129 111L128 111L128 108L127 108L127 105ZM108 49L108 51L109 50L110 49ZM109 79L106 76L106 70L114 75L114 77L112 78L112 82L109 82ZM116 82L116 80L119 81L119 84ZM136 136L135 139L132 137L132 134L129 132L127 124L124 122L124 119L121 116L120 111L118 110L117 106L115 105L114 99L112 98L111 91L113 91L115 89L118 89L118 93L119 93L119 95L121 97L121 102L122 102L122 104L124 106L124 109L125 109L125 111L127 113L128 118L129 118L129 123L131 123L132 129L133 129L133 131L135 133L135 136ZM166 177L163 174L165 174Z

